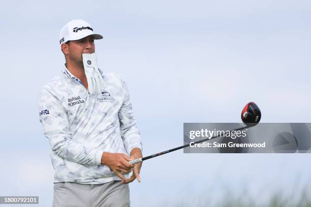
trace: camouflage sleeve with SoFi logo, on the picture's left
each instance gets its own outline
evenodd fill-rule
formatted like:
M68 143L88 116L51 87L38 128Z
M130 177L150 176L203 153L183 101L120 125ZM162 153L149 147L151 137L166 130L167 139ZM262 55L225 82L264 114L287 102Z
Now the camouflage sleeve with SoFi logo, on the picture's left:
M101 165L102 151L71 139L67 113L59 99L47 89L40 92L39 108L44 135L56 155L84 165Z

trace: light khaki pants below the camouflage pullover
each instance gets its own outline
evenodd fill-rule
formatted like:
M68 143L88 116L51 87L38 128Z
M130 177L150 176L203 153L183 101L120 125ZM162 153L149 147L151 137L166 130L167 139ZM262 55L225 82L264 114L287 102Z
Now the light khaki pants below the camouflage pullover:
M105 184L54 183L53 207L128 207L130 188L121 181Z

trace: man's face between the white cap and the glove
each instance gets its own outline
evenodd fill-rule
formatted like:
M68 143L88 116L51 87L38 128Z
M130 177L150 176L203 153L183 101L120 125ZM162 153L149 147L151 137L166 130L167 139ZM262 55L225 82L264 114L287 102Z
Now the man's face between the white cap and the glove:
M83 64L82 54L83 53L94 53L95 52L95 44L94 37L87 36L80 40L70 41L68 44L68 57L70 60Z

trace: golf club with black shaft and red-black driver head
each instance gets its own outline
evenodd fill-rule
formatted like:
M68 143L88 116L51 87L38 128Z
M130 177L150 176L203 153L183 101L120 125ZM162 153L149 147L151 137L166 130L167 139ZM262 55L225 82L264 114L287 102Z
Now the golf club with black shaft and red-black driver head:
M256 105L255 102L249 102L249 103L247 103L245 105L245 107L243 108L242 113L241 113L241 119L242 119L243 123L246 126L243 126L243 127L237 128L237 129L233 129L230 132L232 132L232 131L239 131L239 130L242 130L242 129L250 128L250 127L256 126L259 123L259 121L261 119L261 112L260 112L260 109ZM217 137L221 137L222 135L223 134L221 133L221 134L219 134L217 136L212 136L210 138L207 138L207 139L204 139L204 140L200 140L200 141L194 142L192 144L198 144L198 143L201 143L201 142L205 142L205 141L208 141L208 140L211 140L211 139L215 139ZM142 158L138 158L138 159L135 159L135 160L131 160L129 162L131 164L136 164L138 162L142 162L144 160L147 160L147 159L150 159L150 158L153 158L153 157L158 157L160 155L164 155L166 153L173 152L173 151L176 151L176 150L180 150L180 149L183 149L183 148L186 148L186 147L190 147L190 144L183 145L183 146L180 146L180 147L176 147L176 148L173 148L173 149L170 149L170 150L166 150L166 151L163 151L163 152L159 152L157 154L149 155L147 157L142 157Z

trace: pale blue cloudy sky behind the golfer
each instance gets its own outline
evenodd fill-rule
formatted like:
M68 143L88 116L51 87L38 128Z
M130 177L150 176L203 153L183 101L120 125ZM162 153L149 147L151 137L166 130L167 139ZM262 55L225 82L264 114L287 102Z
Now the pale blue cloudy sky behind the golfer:
M58 33L72 19L103 34L99 65L127 81L144 155L182 145L183 122L240 122L249 101L262 122L311 121L310 1L11 1L0 17L0 195L52 202L38 92L61 70ZM144 162L131 200L200 205L202 196L216 202L228 189L263 198L299 192L310 181L308 166L308 154L177 151Z

